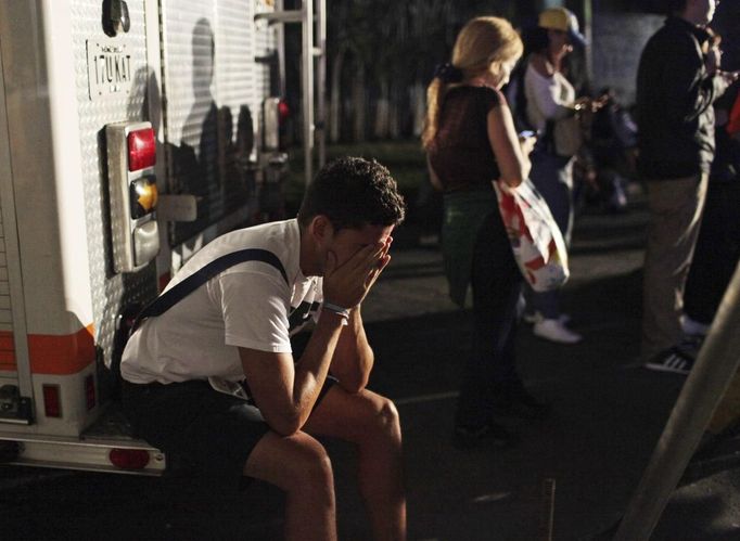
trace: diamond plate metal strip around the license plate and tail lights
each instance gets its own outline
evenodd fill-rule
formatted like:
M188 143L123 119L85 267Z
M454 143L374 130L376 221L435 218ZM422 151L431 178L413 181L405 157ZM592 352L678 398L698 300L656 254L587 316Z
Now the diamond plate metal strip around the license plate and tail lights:
M133 87L128 95L91 100L88 90L87 40L105 38L101 26L100 0L73 0L73 43L75 81L79 110L80 150L85 181L85 208L90 259L90 287L93 299L95 343L106 359L113 347L116 317L129 302L144 301L157 294L156 270L152 263L131 274L112 270L110 205L107 202L106 149L104 127L122 120L144 120L144 96L150 76L146 65L144 0L128 0L130 30L114 38L125 42L131 55Z

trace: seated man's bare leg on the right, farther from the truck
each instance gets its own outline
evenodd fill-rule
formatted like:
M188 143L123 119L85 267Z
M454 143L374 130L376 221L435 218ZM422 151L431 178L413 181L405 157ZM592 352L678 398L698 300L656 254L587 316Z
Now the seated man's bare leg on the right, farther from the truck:
M367 389L353 395L334 385L304 429L357 445L358 482L377 541L406 539L401 437L393 402Z

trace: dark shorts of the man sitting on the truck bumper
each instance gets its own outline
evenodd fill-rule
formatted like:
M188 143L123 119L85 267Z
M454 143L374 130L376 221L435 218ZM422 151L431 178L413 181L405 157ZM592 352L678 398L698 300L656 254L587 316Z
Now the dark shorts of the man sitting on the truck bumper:
M327 377L317 404L335 382ZM246 459L270 429L254 402L206 381L124 382L123 405L133 435L165 452L168 474L192 475L208 489L237 489Z

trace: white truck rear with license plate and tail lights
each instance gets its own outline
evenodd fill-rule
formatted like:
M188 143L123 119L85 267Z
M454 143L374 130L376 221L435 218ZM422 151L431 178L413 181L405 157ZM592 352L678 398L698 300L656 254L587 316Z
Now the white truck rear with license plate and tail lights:
M312 74L310 1L0 0L0 460L164 469L116 359L200 247L284 217L286 22Z

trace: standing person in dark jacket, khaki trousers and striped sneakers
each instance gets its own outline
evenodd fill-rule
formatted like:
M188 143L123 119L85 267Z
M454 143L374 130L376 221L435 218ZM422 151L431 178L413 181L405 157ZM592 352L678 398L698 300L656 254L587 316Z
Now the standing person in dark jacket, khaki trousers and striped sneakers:
M650 209L640 355L649 369L686 374L693 359L680 348L684 289L715 155L713 103L737 74L703 50L715 1L669 4L637 74L638 171Z

